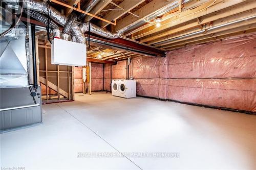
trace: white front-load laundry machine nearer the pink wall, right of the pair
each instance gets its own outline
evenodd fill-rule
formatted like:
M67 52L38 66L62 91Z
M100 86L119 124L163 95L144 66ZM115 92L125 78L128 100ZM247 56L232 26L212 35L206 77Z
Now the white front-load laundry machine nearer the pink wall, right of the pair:
M122 98L136 97L136 80L119 80L119 96Z

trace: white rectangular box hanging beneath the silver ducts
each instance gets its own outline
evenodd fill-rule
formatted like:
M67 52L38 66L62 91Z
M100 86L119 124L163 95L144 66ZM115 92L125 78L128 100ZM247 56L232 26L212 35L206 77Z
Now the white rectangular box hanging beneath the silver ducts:
M84 66L86 65L86 45L54 38L51 59L52 64Z

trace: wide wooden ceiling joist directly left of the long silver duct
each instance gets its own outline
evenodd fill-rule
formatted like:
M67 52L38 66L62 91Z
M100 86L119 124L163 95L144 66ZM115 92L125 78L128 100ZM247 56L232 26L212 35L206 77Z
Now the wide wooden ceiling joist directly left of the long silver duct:
M135 21L143 20L144 17L158 11L159 9L165 7L169 3L173 3L174 1L175 0L171 0L171 1L154 0L134 12L134 14L138 15L139 17L136 17L134 15L129 15L123 18L121 22L117 23L115 30L118 31L124 27L132 25L132 23Z

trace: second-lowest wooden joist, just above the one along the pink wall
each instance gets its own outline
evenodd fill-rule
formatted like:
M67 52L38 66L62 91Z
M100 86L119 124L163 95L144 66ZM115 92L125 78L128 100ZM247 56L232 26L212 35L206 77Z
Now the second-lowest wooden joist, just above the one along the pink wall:
M191 38L191 39L188 39L188 40L185 40L185 41L182 41L182 42L177 42L177 43L174 43L174 44L170 44L169 46L166 46L165 48L167 50L169 50L173 46L189 44L191 42L201 41L201 40L205 40L205 39L209 39L209 38L214 39L216 37L217 38L218 37L223 37L223 36L226 36L226 35L231 35L233 33L243 33L243 31L245 31L245 30L255 30L255 29L256 29L256 23L253 23L251 25L246 25L246 26L243 26L243 27L228 29L228 30L225 30L225 31L214 33L213 35L208 34L208 35L204 35L204 36L201 36L201 37Z

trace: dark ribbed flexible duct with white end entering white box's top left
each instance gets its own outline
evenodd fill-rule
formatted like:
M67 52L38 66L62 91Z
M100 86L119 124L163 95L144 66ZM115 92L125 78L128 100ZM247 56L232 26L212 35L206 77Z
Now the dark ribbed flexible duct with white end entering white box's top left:
M32 11L28 9L24 9L23 12L25 12L29 16L32 16L36 20L44 23L45 25L48 25L48 18L45 15L42 15L36 11ZM59 27L56 25L56 23L50 20L49 27L53 31L54 37L60 37Z

